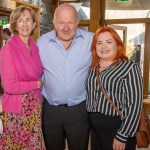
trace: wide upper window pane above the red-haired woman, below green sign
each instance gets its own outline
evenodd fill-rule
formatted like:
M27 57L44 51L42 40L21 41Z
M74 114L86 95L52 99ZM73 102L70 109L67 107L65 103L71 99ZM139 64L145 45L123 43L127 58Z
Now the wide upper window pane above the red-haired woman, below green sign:
M150 18L149 0L115 2L106 0L105 19Z

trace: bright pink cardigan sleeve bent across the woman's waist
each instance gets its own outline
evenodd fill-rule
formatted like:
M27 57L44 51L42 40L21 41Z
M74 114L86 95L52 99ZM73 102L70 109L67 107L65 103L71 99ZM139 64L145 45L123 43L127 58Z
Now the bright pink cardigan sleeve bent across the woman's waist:
M38 89L37 81L17 81L15 66L8 45L1 49L0 72L3 88L9 94L25 94Z

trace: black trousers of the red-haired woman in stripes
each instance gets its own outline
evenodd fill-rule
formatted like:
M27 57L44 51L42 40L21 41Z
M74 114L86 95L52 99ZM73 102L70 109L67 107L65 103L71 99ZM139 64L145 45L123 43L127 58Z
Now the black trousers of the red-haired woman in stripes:
M113 140L121 126L120 117L89 113L91 124L91 150L113 150ZM130 137L125 150L136 149L136 138Z

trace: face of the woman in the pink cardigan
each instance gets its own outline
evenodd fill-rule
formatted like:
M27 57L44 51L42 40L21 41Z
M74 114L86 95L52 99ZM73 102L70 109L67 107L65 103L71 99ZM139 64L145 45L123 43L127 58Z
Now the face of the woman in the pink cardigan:
M22 38L28 37L30 36L34 27L35 22L33 22L30 12L28 10L24 10L16 23L16 30L18 31L18 34Z

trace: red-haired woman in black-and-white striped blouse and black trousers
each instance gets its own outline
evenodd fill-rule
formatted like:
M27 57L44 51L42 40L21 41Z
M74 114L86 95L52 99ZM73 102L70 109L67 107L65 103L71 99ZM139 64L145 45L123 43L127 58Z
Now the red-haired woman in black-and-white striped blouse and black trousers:
M86 80L91 149L135 150L143 98L140 67L128 60L123 42L110 27L95 32L91 51Z

